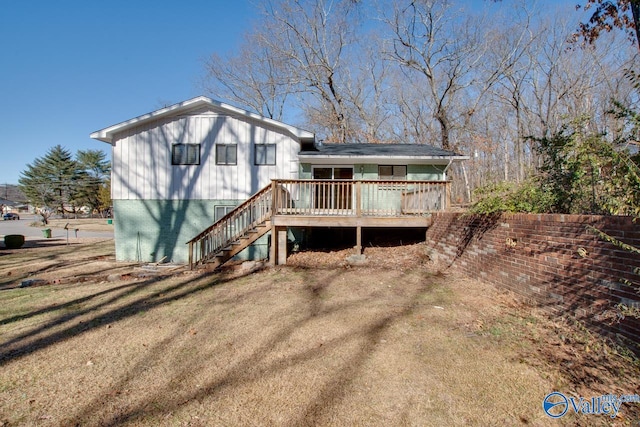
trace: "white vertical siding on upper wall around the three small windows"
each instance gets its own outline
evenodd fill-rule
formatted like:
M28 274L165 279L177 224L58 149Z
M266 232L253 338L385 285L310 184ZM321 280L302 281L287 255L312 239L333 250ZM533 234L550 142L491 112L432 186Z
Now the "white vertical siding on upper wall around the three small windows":
M200 165L171 165L171 145L201 144ZM238 145L237 165L216 165L215 144ZM254 144L276 144L276 165L254 165ZM117 136L116 200L246 199L275 178L297 178L297 140L257 122L200 110Z

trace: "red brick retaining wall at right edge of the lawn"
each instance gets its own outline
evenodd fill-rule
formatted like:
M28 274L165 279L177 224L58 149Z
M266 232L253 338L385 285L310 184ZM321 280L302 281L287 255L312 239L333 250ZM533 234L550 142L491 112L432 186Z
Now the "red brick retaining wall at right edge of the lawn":
M587 226L640 247L640 222L617 216L447 212L434 216L426 237L441 268L456 268L552 312L572 314L640 354L640 321L614 310L620 303L640 308L640 276L633 271L640 268L640 256L604 242Z

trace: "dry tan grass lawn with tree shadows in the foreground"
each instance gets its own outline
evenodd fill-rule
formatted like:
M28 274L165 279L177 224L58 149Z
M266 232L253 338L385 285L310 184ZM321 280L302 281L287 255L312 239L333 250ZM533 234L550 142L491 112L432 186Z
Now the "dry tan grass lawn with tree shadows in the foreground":
M0 290L0 425L549 425L551 391L638 391L595 338L420 262L96 277ZM585 343L613 367L591 382L553 360Z

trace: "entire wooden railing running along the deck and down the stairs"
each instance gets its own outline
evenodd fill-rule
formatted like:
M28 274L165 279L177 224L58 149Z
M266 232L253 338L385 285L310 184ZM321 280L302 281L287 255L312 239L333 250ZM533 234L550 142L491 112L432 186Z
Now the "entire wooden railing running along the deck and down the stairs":
M189 265L214 258L272 215L426 216L449 207L446 181L273 180L189 242Z

